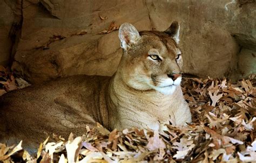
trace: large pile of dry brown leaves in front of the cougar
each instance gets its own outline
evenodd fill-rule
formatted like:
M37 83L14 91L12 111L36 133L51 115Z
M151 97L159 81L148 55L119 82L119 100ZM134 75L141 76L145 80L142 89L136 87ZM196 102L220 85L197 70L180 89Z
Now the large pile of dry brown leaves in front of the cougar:
M183 92L193 123L166 131L108 131L87 127L80 137L42 143L32 157L18 146L0 144L0 162L254 162L256 80L185 79Z

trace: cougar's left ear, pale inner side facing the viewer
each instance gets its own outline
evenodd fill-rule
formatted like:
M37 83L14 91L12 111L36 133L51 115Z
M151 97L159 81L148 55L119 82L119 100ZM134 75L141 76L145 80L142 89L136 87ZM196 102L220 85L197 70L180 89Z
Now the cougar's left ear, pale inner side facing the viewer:
M119 39L121 41L121 47L127 51L131 48L131 45L136 44L140 39L139 32L130 23L124 23L119 27Z

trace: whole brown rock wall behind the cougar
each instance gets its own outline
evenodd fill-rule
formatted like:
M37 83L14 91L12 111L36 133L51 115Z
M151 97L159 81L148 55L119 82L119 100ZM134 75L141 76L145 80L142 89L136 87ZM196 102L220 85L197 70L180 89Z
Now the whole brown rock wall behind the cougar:
M0 8L0 63L12 54L12 69L33 83L112 75L122 55L118 31L98 34L112 21L164 31L178 20L185 73L233 79L256 73L254 0L6 0ZM11 28L17 22L19 29Z

